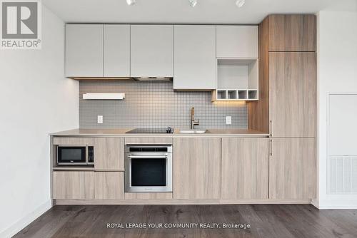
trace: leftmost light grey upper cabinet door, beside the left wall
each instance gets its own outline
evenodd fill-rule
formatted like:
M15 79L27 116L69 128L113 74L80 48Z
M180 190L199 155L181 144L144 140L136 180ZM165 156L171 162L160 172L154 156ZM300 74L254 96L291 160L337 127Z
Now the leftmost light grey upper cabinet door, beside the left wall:
M103 25L66 25L66 77L103 77Z

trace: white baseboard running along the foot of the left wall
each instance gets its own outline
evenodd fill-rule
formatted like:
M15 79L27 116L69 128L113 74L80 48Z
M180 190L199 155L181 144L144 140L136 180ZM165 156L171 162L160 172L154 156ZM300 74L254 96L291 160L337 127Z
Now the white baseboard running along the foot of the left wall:
M37 219L39 216L41 216L41 214L44 214L44 212L48 211L51 207L52 207L51 200L45 202L43 205L34 209L33 212L26 214L26 216L24 216L18 222L16 222L15 224L12 224L11 227L2 231L0 233L0 237L14 236L17 232L21 231L21 229L24 229L24 227L26 227L28 224L30 224L31 222L34 222L35 219Z

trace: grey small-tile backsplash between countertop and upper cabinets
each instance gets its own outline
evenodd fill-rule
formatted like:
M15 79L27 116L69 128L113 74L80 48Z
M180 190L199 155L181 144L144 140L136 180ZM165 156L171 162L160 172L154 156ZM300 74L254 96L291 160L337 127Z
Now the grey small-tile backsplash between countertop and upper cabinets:
M211 103L208 91L174 91L172 82L81 81L80 128L189 128L191 107L200 125L196 128L248 127L245 103ZM83 100L84 93L125 93L124 100ZM104 123L97 123L103 115ZM226 116L232 117L226 125Z

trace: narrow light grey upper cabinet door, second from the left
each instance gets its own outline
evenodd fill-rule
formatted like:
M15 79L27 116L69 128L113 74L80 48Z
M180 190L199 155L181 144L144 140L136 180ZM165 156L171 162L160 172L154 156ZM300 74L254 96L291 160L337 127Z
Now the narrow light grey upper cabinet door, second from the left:
M130 26L104 25L104 77L130 76Z

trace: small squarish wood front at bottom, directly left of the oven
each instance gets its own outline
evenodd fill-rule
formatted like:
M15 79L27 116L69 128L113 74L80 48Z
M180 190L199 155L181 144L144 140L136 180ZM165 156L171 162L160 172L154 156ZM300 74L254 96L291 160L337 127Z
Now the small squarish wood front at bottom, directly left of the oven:
M94 172L94 199L124 199L124 172Z

